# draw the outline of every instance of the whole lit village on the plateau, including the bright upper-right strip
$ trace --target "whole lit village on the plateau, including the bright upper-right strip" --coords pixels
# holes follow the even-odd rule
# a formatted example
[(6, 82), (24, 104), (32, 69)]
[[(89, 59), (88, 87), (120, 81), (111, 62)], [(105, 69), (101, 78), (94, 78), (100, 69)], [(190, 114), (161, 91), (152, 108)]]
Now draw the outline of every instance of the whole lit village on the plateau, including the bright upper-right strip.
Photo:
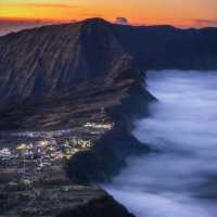
[(16, 186), (17, 180), (29, 186), (40, 179), (44, 181), (46, 177), (50, 179), (50, 174), (60, 177), (62, 167), (73, 155), (91, 149), (98, 136), (113, 127), (113, 123), (86, 123), (76, 133), (68, 131), (64, 139), (56, 133), (59, 136), (37, 137), (10, 148), (2, 146), (0, 171), (3, 179), (8, 179), (10, 186)]

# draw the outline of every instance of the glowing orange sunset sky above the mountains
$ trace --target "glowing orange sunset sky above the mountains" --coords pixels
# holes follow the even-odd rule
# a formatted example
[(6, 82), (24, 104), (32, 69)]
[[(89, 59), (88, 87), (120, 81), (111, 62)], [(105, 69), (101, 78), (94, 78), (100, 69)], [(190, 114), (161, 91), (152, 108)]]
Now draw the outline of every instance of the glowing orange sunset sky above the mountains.
[(127, 17), (131, 24), (217, 26), (217, 0), (0, 0), (0, 18)]

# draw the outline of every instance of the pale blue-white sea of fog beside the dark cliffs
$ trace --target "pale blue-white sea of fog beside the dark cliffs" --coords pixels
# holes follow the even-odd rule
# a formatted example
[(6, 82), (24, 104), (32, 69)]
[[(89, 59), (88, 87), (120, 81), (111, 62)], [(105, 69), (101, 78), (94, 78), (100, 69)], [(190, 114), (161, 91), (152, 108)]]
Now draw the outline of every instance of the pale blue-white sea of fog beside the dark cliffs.
[(149, 72), (158, 102), (135, 136), (158, 152), (105, 186), (138, 217), (217, 216), (217, 73)]

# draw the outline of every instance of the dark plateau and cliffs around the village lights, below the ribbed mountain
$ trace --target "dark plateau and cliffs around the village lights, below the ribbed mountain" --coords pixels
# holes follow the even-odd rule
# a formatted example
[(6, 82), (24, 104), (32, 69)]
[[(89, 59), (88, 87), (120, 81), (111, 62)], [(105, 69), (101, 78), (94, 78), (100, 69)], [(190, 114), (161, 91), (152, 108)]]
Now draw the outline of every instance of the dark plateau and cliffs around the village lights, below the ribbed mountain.
[[(108, 180), (126, 165), (127, 155), (149, 151), (130, 133), (132, 120), (148, 114), (148, 103), (154, 100), (142, 86), (141, 72), (126, 69), (4, 107), (0, 113), (0, 140), (12, 150), (17, 143), (37, 143), (41, 139), (54, 141), (62, 149), (67, 141), (73, 145), (75, 137), (90, 141), (90, 146), (81, 143), (72, 148), (76, 152), (69, 161), (56, 159), (40, 171), (37, 159), (25, 162), (25, 174), (20, 173), (22, 158), (1, 164), (0, 214), (131, 217), (102, 190), (77, 184)], [(94, 128), (87, 123), (105, 127)], [(37, 136), (25, 136), (26, 131)]]

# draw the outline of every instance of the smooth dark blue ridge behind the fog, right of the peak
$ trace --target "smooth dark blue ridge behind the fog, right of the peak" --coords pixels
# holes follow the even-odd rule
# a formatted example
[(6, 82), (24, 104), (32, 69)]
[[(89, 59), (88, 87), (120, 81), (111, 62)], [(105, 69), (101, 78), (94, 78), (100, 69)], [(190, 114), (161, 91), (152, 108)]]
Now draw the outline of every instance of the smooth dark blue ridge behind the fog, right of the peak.
[(217, 69), (217, 28), (114, 26), (122, 47), (146, 69)]

